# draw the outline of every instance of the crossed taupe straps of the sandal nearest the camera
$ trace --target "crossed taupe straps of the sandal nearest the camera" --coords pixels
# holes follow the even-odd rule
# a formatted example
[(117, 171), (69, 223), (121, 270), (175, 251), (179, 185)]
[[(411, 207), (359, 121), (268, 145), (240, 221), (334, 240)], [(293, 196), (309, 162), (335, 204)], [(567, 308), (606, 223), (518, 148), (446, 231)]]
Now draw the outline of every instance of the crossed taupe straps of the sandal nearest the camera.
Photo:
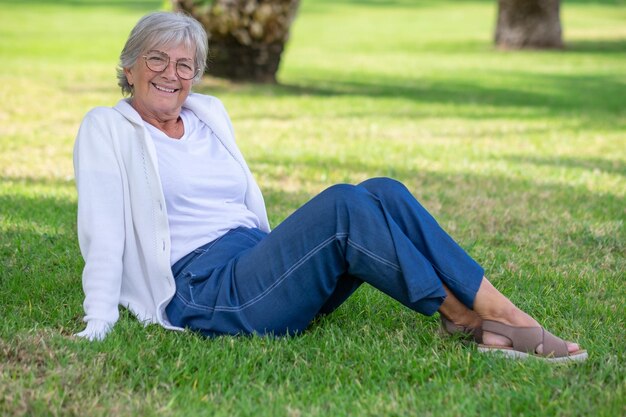
[(518, 352), (537, 355), (537, 347), (543, 344), (541, 356), (555, 358), (568, 356), (567, 344), (543, 327), (515, 327), (492, 320), (483, 321), (483, 330), (508, 338)]

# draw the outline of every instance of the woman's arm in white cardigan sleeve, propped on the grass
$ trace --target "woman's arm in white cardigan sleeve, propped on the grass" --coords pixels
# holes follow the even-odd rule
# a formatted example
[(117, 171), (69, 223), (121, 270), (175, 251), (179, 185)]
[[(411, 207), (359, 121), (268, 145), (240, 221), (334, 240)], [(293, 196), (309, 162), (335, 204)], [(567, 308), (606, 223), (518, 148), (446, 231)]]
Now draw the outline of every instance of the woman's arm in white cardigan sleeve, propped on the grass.
[[(85, 116), (74, 145), (78, 190), (78, 242), (85, 260), (83, 290), (87, 327), (77, 336), (103, 339), (119, 317), (124, 254), (124, 190), (107, 112)], [(110, 113), (109, 113), (110, 114)], [(109, 121), (109, 123), (107, 123)]]

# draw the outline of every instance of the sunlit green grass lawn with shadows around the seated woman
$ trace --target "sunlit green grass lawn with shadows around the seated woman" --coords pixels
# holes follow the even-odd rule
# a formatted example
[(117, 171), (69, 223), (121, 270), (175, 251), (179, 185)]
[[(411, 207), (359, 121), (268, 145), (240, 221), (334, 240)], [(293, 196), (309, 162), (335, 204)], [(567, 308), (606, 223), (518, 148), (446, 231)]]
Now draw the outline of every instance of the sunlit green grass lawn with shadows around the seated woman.
[(493, 1), (305, 0), (279, 86), (207, 78), (276, 225), (336, 182), (405, 182), (587, 362), (494, 360), (371, 288), (296, 338), (82, 330), (71, 152), (161, 1), (0, 0), (0, 414), (626, 414), (626, 8), (567, 1), (565, 51), (502, 52)]

